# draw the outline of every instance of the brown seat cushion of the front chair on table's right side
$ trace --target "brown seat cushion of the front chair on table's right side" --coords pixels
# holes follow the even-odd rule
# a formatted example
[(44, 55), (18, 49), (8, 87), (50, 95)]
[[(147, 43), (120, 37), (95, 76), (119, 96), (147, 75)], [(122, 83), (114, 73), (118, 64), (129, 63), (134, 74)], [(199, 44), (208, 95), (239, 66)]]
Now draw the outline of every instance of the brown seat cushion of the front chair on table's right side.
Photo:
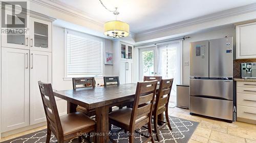
[[(126, 126), (130, 125), (130, 120), (131, 120), (131, 115), (132, 115), (132, 108), (123, 108), (119, 110), (114, 110), (109, 114), (109, 119), (117, 121), (119, 123), (122, 123)], [(143, 116), (135, 121), (135, 124), (143, 121), (146, 119), (147, 116)]]

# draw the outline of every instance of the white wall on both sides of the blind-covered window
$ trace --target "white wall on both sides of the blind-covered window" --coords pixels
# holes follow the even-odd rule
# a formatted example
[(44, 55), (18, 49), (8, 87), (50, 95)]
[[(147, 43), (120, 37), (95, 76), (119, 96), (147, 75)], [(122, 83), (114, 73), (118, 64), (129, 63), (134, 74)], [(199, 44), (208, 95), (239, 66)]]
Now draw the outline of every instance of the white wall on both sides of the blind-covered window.
[[(53, 46), (52, 46), (52, 84), (54, 90), (69, 90), (72, 89), (72, 80), (63, 80), (65, 77), (65, 33), (63, 27), (53, 26)], [(103, 38), (102, 38), (103, 39)], [(112, 51), (112, 41), (104, 39), (103, 55), (104, 52)], [(102, 58), (104, 60), (104, 56)], [(112, 65), (104, 65), (103, 63), (103, 76), (111, 76), (113, 73)], [(103, 84), (103, 78), (97, 77), (96, 84)]]

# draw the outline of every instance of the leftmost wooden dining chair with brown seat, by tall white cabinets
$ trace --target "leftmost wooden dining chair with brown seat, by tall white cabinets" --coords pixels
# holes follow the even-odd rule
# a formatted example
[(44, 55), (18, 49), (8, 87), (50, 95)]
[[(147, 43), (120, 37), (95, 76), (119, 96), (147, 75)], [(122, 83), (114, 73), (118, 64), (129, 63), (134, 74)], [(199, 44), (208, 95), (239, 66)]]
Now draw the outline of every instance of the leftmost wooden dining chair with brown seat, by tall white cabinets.
[(80, 112), (73, 112), (59, 117), (52, 85), (41, 81), (38, 81), (38, 85), (47, 119), (47, 143), (50, 142), (51, 132), (57, 138), (58, 143), (63, 143), (77, 136), (78, 141), (81, 142), (82, 134), (95, 131), (95, 121)]

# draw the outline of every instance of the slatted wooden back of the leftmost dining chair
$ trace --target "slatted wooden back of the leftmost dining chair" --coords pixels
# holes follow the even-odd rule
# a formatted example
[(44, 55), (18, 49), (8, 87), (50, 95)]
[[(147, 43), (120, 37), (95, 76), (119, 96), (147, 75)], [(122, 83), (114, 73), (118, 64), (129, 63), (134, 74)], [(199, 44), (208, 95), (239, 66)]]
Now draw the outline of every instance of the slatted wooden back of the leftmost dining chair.
[(38, 81), (38, 85), (41, 94), (42, 104), (44, 106), (46, 114), (47, 126), (50, 126), (50, 128), (54, 129), (53, 132), (57, 138), (58, 136), (63, 136), (59, 113), (53, 95), (52, 84)]

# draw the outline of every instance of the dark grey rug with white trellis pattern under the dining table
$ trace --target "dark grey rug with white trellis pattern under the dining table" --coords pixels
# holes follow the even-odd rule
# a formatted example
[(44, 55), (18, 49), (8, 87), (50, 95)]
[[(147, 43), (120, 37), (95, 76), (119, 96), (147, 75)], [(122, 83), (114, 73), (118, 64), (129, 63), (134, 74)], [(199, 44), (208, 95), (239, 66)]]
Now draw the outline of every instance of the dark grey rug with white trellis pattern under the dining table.
[[(160, 130), (160, 142), (163, 143), (186, 143), (190, 136), (193, 134), (195, 129), (197, 128), (198, 122), (188, 121), (181, 118), (176, 117), (170, 117), (170, 125), (172, 126), (172, 131), (169, 130), (169, 128), (166, 126)], [(119, 133), (114, 133), (120, 128), (116, 126), (112, 126), (112, 134), (111, 138), (113, 138), (117, 142), (125, 143), (129, 142), (129, 137), (127, 134), (124, 133), (124, 131), (121, 131)], [(147, 130), (145, 128), (141, 128), (138, 130), (141, 133), (147, 134)], [(7, 141), (4, 141), (3, 143), (43, 143), (46, 141), (46, 129), (37, 131), (31, 134), (27, 134), (24, 136), (20, 136), (14, 139), (10, 139)], [(155, 140), (156, 137), (154, 136)], [(91, 140), (93, 140), (91, 138)], [(135, 134), (135, 142), (143, 142), (146, 140), (145, 137)], [(57, 142), (57, 139), (54, 137), (54, 135), (51, 136), (50, 142)], [(77, 143), (78, 138), (71, 139), (70, 141), (67, 141), (66, 143)], [(82, 142), (87, 142), (87, 140), (83, 139)], [(157, 141), (155, 141), (157, 142)]]

